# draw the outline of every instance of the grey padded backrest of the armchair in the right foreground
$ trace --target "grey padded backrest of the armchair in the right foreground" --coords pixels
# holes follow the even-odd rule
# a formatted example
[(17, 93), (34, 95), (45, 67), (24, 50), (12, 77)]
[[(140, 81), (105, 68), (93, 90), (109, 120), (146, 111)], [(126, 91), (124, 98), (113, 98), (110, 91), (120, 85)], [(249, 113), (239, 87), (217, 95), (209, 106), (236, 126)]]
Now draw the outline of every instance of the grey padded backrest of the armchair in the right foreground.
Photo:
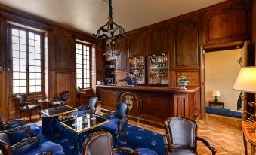
[(165, 121), (170, 150), (184, 148), (196, 153), (196, 122), (187, 118), (171, 117)]

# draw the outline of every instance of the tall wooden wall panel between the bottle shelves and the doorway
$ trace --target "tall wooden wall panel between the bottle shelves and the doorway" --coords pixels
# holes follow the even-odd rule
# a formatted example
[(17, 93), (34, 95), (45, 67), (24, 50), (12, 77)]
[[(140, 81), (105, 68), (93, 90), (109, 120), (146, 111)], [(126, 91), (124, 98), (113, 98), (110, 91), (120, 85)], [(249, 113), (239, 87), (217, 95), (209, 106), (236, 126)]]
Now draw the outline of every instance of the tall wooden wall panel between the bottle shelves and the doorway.
[(199, 66), (201, 44), (200, 18), (171, 25), (171, 68)]

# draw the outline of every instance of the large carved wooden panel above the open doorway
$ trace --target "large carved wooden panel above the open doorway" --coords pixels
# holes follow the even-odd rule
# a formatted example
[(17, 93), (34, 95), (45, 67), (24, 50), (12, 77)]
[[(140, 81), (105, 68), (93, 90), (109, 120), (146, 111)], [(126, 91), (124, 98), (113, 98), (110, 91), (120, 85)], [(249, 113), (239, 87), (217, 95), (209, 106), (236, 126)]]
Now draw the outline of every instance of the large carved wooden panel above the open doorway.
[(205, 45), (245, 41), (250, 36), (249, 1), (205, 13)]

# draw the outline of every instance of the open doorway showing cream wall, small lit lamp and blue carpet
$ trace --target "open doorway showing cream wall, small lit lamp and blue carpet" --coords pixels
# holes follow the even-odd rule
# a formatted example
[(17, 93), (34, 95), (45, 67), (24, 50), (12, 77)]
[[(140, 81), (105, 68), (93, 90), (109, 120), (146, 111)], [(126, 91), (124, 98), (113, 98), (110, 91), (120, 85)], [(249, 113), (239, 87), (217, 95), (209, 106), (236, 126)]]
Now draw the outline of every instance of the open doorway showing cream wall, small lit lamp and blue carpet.
[(242, 67), (242, 48), (205, 53), (205, 107), (207, 114), (241, 118), (242, 99), (233, 90)]

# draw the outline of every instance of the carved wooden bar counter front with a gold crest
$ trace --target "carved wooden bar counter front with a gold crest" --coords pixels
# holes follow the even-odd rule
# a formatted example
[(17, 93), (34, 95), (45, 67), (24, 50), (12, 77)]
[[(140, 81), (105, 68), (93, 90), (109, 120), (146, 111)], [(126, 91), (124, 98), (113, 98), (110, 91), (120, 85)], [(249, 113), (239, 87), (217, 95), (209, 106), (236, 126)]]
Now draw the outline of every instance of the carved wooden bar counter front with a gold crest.
[(116, 102), (128, 102), (129, 116), (163, 125), (168, 117), (200, 114), (199, 88), (99, 85), (96, 91), (103, 109), (115, 111)]

